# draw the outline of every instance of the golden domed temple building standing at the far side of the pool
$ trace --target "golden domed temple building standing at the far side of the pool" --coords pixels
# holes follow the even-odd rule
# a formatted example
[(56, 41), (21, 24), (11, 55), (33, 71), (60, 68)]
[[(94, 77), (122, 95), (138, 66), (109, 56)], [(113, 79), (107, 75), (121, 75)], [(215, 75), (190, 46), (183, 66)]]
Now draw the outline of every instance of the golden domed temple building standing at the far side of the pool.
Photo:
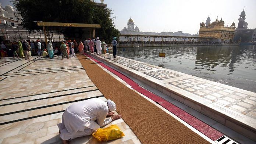
[(206, 24), (202, 22), (199, 29), (199, 37), (209, 37), (210, 42), (232, 42), (235, 33), (235, 23), (230, 27), (224, 26), (224, 21), (218, 20), (210, 23), (210, 17), (207, 18)]

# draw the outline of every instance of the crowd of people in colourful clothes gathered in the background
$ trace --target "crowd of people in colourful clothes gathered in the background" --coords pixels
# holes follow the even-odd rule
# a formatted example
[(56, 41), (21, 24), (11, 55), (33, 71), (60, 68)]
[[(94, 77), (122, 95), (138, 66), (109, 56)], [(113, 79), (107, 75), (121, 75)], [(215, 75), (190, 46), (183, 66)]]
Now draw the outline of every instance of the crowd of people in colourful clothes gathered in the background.
[[(98, 55), (106, 53), (107, 51), (107, 43), (102, 39), (100, 41), (99, 37), (95, 39), (85, 39), (83, 42), (80, 41), (77, 43), (76, 40), (66, 40), (63, 42), (52, 42), (48, 41), (46, 43), (44, 41), (34, 40), (24, 40), (23, 42), (20, 40), (18, 42), (1, 42), (0, 45), (0, 59), (2, 57), (17, 57), (17, 58), (25, 58), (25, 60), (31, 60), (32, 56), (39, 55), (44, 58), (54, 58), (54, 55), (61, 55), (62, 59), (64, 56), (66, 58), (76, 57), (76, 54), (84, 53), (84, 51), (89, 51), (90, 53), (96, 53)], [(116, 37), (114, 37), (112, 41), (114, 58), (116, 54)]]

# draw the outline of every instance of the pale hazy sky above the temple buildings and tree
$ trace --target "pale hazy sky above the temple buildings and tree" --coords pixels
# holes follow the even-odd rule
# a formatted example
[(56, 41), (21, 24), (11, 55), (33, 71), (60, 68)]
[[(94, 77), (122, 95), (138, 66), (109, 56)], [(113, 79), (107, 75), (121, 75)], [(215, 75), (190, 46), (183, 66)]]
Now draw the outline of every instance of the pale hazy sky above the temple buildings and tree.
[[(10, 0), (0, 0), (6, 6)], [(99, 2), (100, 0), (95, 0)], [(177, 32), (195, 34), (199, 24), (206, 21), (210, 14), (211, 21), (217, 16), (231, 26), (238, 18), (243, 7), (249, 28), (256, 28), (256, 0), (104, 0), (107, 7), (113, 10), (114, 23), (117, 29), (127, 27), (130, 17), (142, 32)]]

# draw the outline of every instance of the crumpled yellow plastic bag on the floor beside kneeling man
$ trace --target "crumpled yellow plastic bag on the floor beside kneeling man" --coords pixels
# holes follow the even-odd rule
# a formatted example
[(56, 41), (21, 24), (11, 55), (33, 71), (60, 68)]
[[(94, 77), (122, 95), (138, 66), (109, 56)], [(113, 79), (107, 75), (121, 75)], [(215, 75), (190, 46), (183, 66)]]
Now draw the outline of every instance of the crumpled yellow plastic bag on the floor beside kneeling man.
[(92, 134), (93, 137), (97, 138), (97, 141), (110, 141), (124, 136), (120, 128), (117, 125), (111, 125), (105, 129), (97, 129)]

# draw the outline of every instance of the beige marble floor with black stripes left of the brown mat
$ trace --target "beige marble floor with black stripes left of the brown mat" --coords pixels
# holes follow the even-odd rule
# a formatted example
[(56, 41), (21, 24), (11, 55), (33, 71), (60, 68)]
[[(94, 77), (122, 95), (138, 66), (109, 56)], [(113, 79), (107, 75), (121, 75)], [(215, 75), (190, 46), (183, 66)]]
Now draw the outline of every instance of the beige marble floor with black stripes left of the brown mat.
[[(61, 144), (57, 123), (64, 110), (74, 102), (106, 98), (86, 75), (76, 57), (33, 57), (0, 60), (0, 143)], [(140, 143), (122, 120), (118, 125), (125, 137), (110, 143)], [(107, 125), (107, 126), (109, 126)], [(98, 143), (92, 136), (76, 138), (71, 144)]]

